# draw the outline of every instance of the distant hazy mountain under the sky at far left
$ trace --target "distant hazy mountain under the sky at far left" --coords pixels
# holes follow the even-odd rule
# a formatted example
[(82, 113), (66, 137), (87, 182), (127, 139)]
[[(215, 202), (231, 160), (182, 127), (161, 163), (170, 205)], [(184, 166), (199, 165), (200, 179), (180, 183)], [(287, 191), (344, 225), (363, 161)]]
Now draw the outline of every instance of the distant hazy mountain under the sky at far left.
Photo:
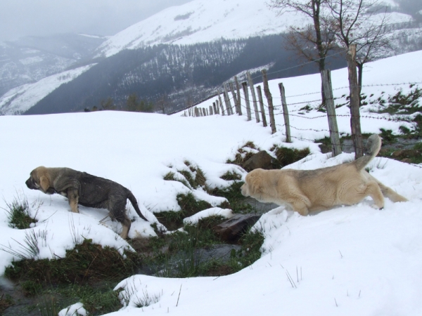
[(0, 43), (0, 96), (83, 64), (105, 40), (87, 34), (58, 34)]

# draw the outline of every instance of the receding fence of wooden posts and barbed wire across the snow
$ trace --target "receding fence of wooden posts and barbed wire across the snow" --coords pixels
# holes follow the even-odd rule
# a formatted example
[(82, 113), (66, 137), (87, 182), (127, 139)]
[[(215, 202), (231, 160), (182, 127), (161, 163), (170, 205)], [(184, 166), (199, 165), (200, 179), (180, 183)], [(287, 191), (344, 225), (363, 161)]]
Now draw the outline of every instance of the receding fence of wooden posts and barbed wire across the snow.
[[(321, 72), (321, 78), (323, 79), (323, 84), (324, 84), (324, 100), (322, 99), (314, 99), (314, 100), (305, 100), (305, 101), (301, 101), (301, 102), (296, 102), (296, 103), (289, 103), (287, 105), (286, 103), (286, 98), (293, 98), (293, 97), (297, 97), (297, 96), (309, 96), (309, 95), (313, 95), (316, 93), (321, 93), (321, 91), (315, 91), (315, 92), (309, 92), (309, 93), (302, 93), (299, 95), (295, 95), (295, 96), (286, 96), (286, 93), (284, 91), (284, 87), (282, 83), (279, 83), (279, 90), (280, 90), (280, 97), (273, 97), (271, 94), (271, 91), (269, 90), (269, 84), (268, 84), (268, 80), (267, 80), (267, 72), (265, 70), (262, 70), (262, 79), (263, 79), (263, 87), (264, 87), (264, 94), (267, 98), (267, 105), (264, 105), (263, 101), (262, 101), (262, 93), (261, 93), (261, 86), (257, 86), (257, 93), (258, 96), (260, 96), (260, 109), (258, 109), (257, 107), (257, 98), (255, 96), (255, 86), (253, 85), (252, 79), (250, 78), (250, 74), (248, 73), (248, 81), (243, 81), (241, 83), (242, 87), (243, 87), (243, 96), (240, 93), (240, 88), (238, 88), (238, 81), (235, 80), (236, 82), (236, 93), (234, 92), (234, 86), (233, 83), (225, 83), (223, 85), (223, 88), (220, 89), (220, 91), (222, 91), (222, 94), (224, 96), (224, 103), (226, 105), (226, 108), (223, 107), (222, 104), (222, 96), (221, 93), (219, 93), (217, 96), (215, 96), (215, 98), (218, 98), (218, 100), (215, 100), (215, 102), (212, 104), (213, 106), (209, 106), (208, 108), (203, 107), (202, 109), (198, 107), (195, 107), (195, 110), (191, 110), (189, 109), (188, 112), (186, 113), (186, 111), (184, 112), (184, 116), (187, 116), (187, 114), (189, 116), (207, 116), (207, 115), (212, 115), (212, 114), (217, 114), (216, 108), (218, 109), (218, 105), (220, 105), (221, 110), (222, 110), (222, 115), (231, 115), (231, 114), (235, 114), (234, 113), (234, 109), (236, 109), (236, 114), (240, 115), (240, 116), (245, 116), (247, 117), (248, 121), (252, 120), (252, 109), (250, 107), (250, 98), (249, 95), (251, 93), (252, 95), (252, 103), (254, 105), (254, 112), (255, 112), (255, 120), (257, 123), (260, 123), (260, 115), (262, 115), (262, 124), (264, 126), (267, 126), (266, 123), (266, 116), (264, 114), (265, 111), (265, 107), (267, 107), (268, 111), (269, 111), (269, 121), (270, 121), (270, 126), (271, 126), (271, 133), (276, 133), (277, 131), (277, 126), (283, 126), (286, 131), (283, 135), (286, 136), (286, 142), (290, 143), (291, 142), (291, 138), (295, 138), (295, 139), (300, 139), (300, 140), (309, 140), (311, 142), (314, 142), (314, 140), (310, 140), (307, 138), (302, 138), (302, 137), (298, 137), (298, 136), (293, 136), (290, 133), (290, 128), (294, 129), (295, 131), (314, 131), (314, 132), (328, 132), (330, 139), (331, 139), (331, 146), (332, 146), (332, 152), (333, 155), (337, 155), (341, 153), (341, 145), (340, 145), (340, 137), (339, 137), (339, 131), (338, 131), (338, 125), (337, 125), (337, 118), (338, 117), (347, 117), (348, 119), (350, 119), (350, 121), (353, 121), (354, 119), (357, 118), (357, 121), (359, 121), (359, 125), (360, 125), (360, 119), (378, 119), (378, 120), (385, 120), (385, 121), (397, 121), (397, 122), (406, 122), (409, 123), (411, 122), (411, 119), (409, 119), (409, 117), (404, 117), (403, 115), (395, 115), (392, 116), (391, 114), (388, 117), (385, 116), (371, 116), (371, 115), (362, 115), (359, 112), (359, 107), (357, 107), (357, 112), (355, 109), (355, 112), (350, 112), (350, 114), (336, 114), (335, 113), (335, 104), (334, 104), (334, 100), (338, 100), (338, 98), (334, 98), (333, 97), (333, 91), (335, 90), (340, 90), (340, 89), (344, 89), (344, 88), (349, 88), (348, 86), (344, 86), (344, 87), (338, 87), (338, 88), (332, 88), (331, 86), (331, 72), (329, 70), (324, 70), (323, 72)], [(235, 78), (237, 79), (237, 78)], [(364, 85), (362, 87), (371, 87), (371, 86), (402, 86), (404, 84), (409, 84), (410, 88), (412, 88), (413, 86), (416, 86), (418, 84), (422, 84), (422, 82), (407, 82), (407, 83), (400, 83), (400, 84), (369, 84), (369, 85)], [(229, 86), (229, 88), (228, 88)], [(356, 85), (353, 86), (354, 88), (356, 87)], [(416, 88), (418, 88), (418, 86), (416, 86)], [(229, 93), (229, 91), (231, 92), (231, 95)], [(249, 92), (250, 91), (250, 92)], [(356, 96), (356, 91), (354, 91), (352, 93), (353, 96)], [(344, 96), (342, 96), (341, 98), (343, 98)], [(351, 98), (352, 96), (350, 96)], [(276, 105), (274, 105), (273, 103), (273, 98), (276, 98), (278, 100), (280, 100), (279, 102), (281, 104), (279, 104), (279, 102), (277, 102)], [(241, 102), (241, 100), (243, 100), (243, 102)], [(231, 101), (234, 101), (234, 105), (232, 105)], [(293, 113), (288, 113), (288, 106), (293, 106), (293, 105), (301, 105), (301, 104), (309, 104), (309, 103), (325, 103), (325, 108), (326, 108), (326, 113), (325, 114), (321, 114), (321, 115), (317, 115), (314, 117), (307, 117), (305, 116), (305, 114), (293, 114)], [(356, 97), (354, 97), (354, 103), (358, 102), (357, 104), (359, 105), (359, 99), (358, 101), (356, 101)], [(350, 104), (352, 105), (352, 100), (350, 100)], [(242, 108), (245, 109), (245, 114), (243, 114), (242, 112)], [(274, 113), (275, 111), (275, 113)], [(300, 112), (299, 112), (300, 113)], [(284, 124), (276, 124), (275, 121), (275, 117), (276, 116), (280, 116), (283, 115), (283, 120), (284, 120)], [(321, 118), (326, 118), (328, 119), (328, 129), (301, 129), (299, 127), (296, 126), (292, 126), (290, 124), (290, 119), (289, 117), (300, 117), (302, 119), (321, 119)], [(359, 131), (359, 133), (355, 133), (354, 134), (354, 129), (357, 129)], [(352, 126), (352, 140), (353, 140), (353, 144), (354, 144), (354, 150), (355, 150), (355, 157), (360, 157), (363, 152), (364, 152), (364, 145), (362, 144), (362, 135), (361, 131), (360, 131), (360, 126), (356, 127), (356, 126)], [(359, 138), (360, 137), (360, 138)], [(361, 155), (358, 156), (359, 152), (362, 152)]]

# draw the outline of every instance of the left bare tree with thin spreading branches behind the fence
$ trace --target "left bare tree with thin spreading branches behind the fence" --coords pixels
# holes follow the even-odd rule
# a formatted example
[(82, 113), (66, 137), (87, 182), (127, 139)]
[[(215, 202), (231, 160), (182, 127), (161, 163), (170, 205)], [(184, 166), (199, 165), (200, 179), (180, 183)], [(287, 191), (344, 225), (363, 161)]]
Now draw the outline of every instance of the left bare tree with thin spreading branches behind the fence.
[[(303, 27), (290, 27), (286, 39), (288, 48), (297, 51), (306, 60), (316, 62), (319, 72), (325, 70), (328, 52), (335, 48), (335, 23), (326, 10), (328, 0), (271, 0), (270, 8), (279, 15), (298, 12), (312, 20)], [(321, 97), (324, 103), (324, 86), (321, 77)]]

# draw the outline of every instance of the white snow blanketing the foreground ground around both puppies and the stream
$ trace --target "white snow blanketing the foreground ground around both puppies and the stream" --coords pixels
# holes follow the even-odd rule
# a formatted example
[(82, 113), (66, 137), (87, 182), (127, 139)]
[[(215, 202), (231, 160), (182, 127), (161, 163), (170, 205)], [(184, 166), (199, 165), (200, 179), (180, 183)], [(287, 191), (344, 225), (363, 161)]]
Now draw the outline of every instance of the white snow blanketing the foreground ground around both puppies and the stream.
[[(396, 93), (397, 88), (408, 91), (409, 84), (403, 83), (418, 82), (421, 86), (421, 58), (422, 52), (415, 52), (369, 64), (364, 84), (399, 85), (366, 86), (364, 93), (375, 93), (373, 98), (378, 98)], [(347, 86), (347, 70), (336, 70), (331, 75), (333, 87), (338, 88), (336, 103), (342, 103), (340, 97), (347, 93), (341, 88)], [(226, 159), (233, 158), (247, 141), (263, 150), (274, 144), (310, 146), (312, 154), (290, 168), (315, 169), (353, 159), (353, 154), (334, 158), (321, 154), (308, 139), (328, 136), (326, 115), (300, 110), (307, 103), (291, 105), (320, 98), (317, 93), (306, 94), (318, 91), (319, 75), (270, 81), (274, 98), (279, 95), (277, 85), (281, 81), (290, 96), (290, 122), (297, 128), (292, 129), (291, 144), (283, 143), (282, 126), (271, 134), (269, 127), (237, 115), (193, 118), (181, 117), (180, 113), (165, 116), (105, 111), (0, 117), (0, 248), (24, 254), (19, 243), (25, 245), (25, 237), (34, 236), (39, 253), (33, 257), (37, 259), (63, 257), (66, 249), (72, 249), (83, 238), (121, 253), (131, 249), (117, 235), (120, 224), (106, 218), (106, 210), (80, 206), (81, 213), (70, 213), (64, 197), (27, 189), (25, 180), (40, 165), (67, 166), (115, 180), (132, 190), (142, 213), (150, 223), (157, 223), (152, 211), (178, 211), (179, 193), (192, 192), (214, 201), (217, 207), (215, 197), (203, 190), (163, 180), (167, 173), (184, 170), (188, 161), (203, 170), (210, 187), (229, 185), (230, 181), (219, 177), (227, 171), (243, 176), (245, 172), (226, 164)], [(302, 96), (293, 97), (298, 94)], [(309, 104), (315, 107), (316, 103)], [(209, 105), (207, 101), (200, 106)], [(403, 123), (380, 119), (386, 114), (367, 112), (374, 106), (362, 109), (362, 114), (372, 117), (362, 119), (362, 131), (378, 133), (384, 128), (399, 133)], [(348, 112), (346, 106), (337, 110), (344, 115)], [(282, 125), (280, 115), (276, 123)], [(349, 117), (339, 117), (338, 125), (340, 132), (350, 133)], [(109, 315), (143, 312), (186, 316), (198, 315), (198, 311), (201, 315), (422, 315), (422, 166), (376, 158), (369, 169), (409, 202), (386, 199), (383, 210), (374, 210), (368, 198), (354, 206), (306, 217), (277, 207), (265, 213), (254, 227), (263, 232), (265, 240), (262, 257), (249, 268), (218, 278), (134, 275), (117, 284), (116, 289), (123, 289), (123, 307)], [(16, 198), (26, 198), (32, 205), (38, 222), (30, 229), (8, 225), (6, 203)], [(198, 217), (223, 211), (206, 210)], [(224, 212), (229, 216), (229, 211)], [(130, 238), (155, 235), (150, 223), (141, 220), (132, 208), (129, 216), (134, 219)], [(19, 258), (8, 251), (0, 253), (2, 274)], [(142, 311), (136, 308), (146, 298), (150, 305)]]

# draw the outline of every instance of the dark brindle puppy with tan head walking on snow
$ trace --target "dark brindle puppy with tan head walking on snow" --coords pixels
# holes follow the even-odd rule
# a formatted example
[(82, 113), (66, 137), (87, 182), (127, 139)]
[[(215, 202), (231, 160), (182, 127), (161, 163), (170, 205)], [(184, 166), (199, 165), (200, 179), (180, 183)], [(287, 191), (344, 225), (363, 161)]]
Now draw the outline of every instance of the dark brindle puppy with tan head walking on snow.
[(91, 176), (89, 173), (70, 168), (46, 168), (39, 166), (31, 171), (25, 184), (32, 190), (40, 190), (48, 195), (59, 193), (69, 199), (70, 209), (79, 213), (77, 204), (108, 209), (110, 218), (117, 220), (123, 226), (120, 236), (127, 239), (131, 221), (126, 214), (126, 200), (143, 220), (136, 198), (126, 187), (112, 180)]

